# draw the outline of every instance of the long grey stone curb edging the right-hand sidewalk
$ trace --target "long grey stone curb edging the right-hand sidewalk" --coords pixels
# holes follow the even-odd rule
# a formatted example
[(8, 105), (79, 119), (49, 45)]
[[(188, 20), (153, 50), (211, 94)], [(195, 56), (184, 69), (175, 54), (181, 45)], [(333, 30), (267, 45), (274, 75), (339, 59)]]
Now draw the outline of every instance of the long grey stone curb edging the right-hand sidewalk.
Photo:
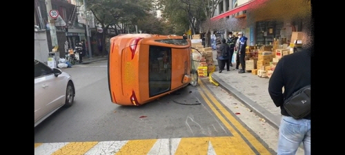
[(264, 109), (264, 107), (260, 106), (259, 104), (255, 103), (253, 100), (249, 99), (246, 95), (242, 94), (241, 92), (237, 91), (234, 87), (231, 87), (226, 82), (221, 80), (217, 75), (212, 74), (212, 79), (219, 83), (219, 86), (221, 86), (226, 92), (233, 94), (236, 99), (244, 103), (246, 107), (248, 107), (250, 110), (253, 110), (255, 114), (257, 114), (259, 117), (264, 118), (270, 125), (275, 127), (275, 129), (279, 130), (280, 120), (282, 116), (275, 116), (272, 113), (268, 112), (268, 110)]

